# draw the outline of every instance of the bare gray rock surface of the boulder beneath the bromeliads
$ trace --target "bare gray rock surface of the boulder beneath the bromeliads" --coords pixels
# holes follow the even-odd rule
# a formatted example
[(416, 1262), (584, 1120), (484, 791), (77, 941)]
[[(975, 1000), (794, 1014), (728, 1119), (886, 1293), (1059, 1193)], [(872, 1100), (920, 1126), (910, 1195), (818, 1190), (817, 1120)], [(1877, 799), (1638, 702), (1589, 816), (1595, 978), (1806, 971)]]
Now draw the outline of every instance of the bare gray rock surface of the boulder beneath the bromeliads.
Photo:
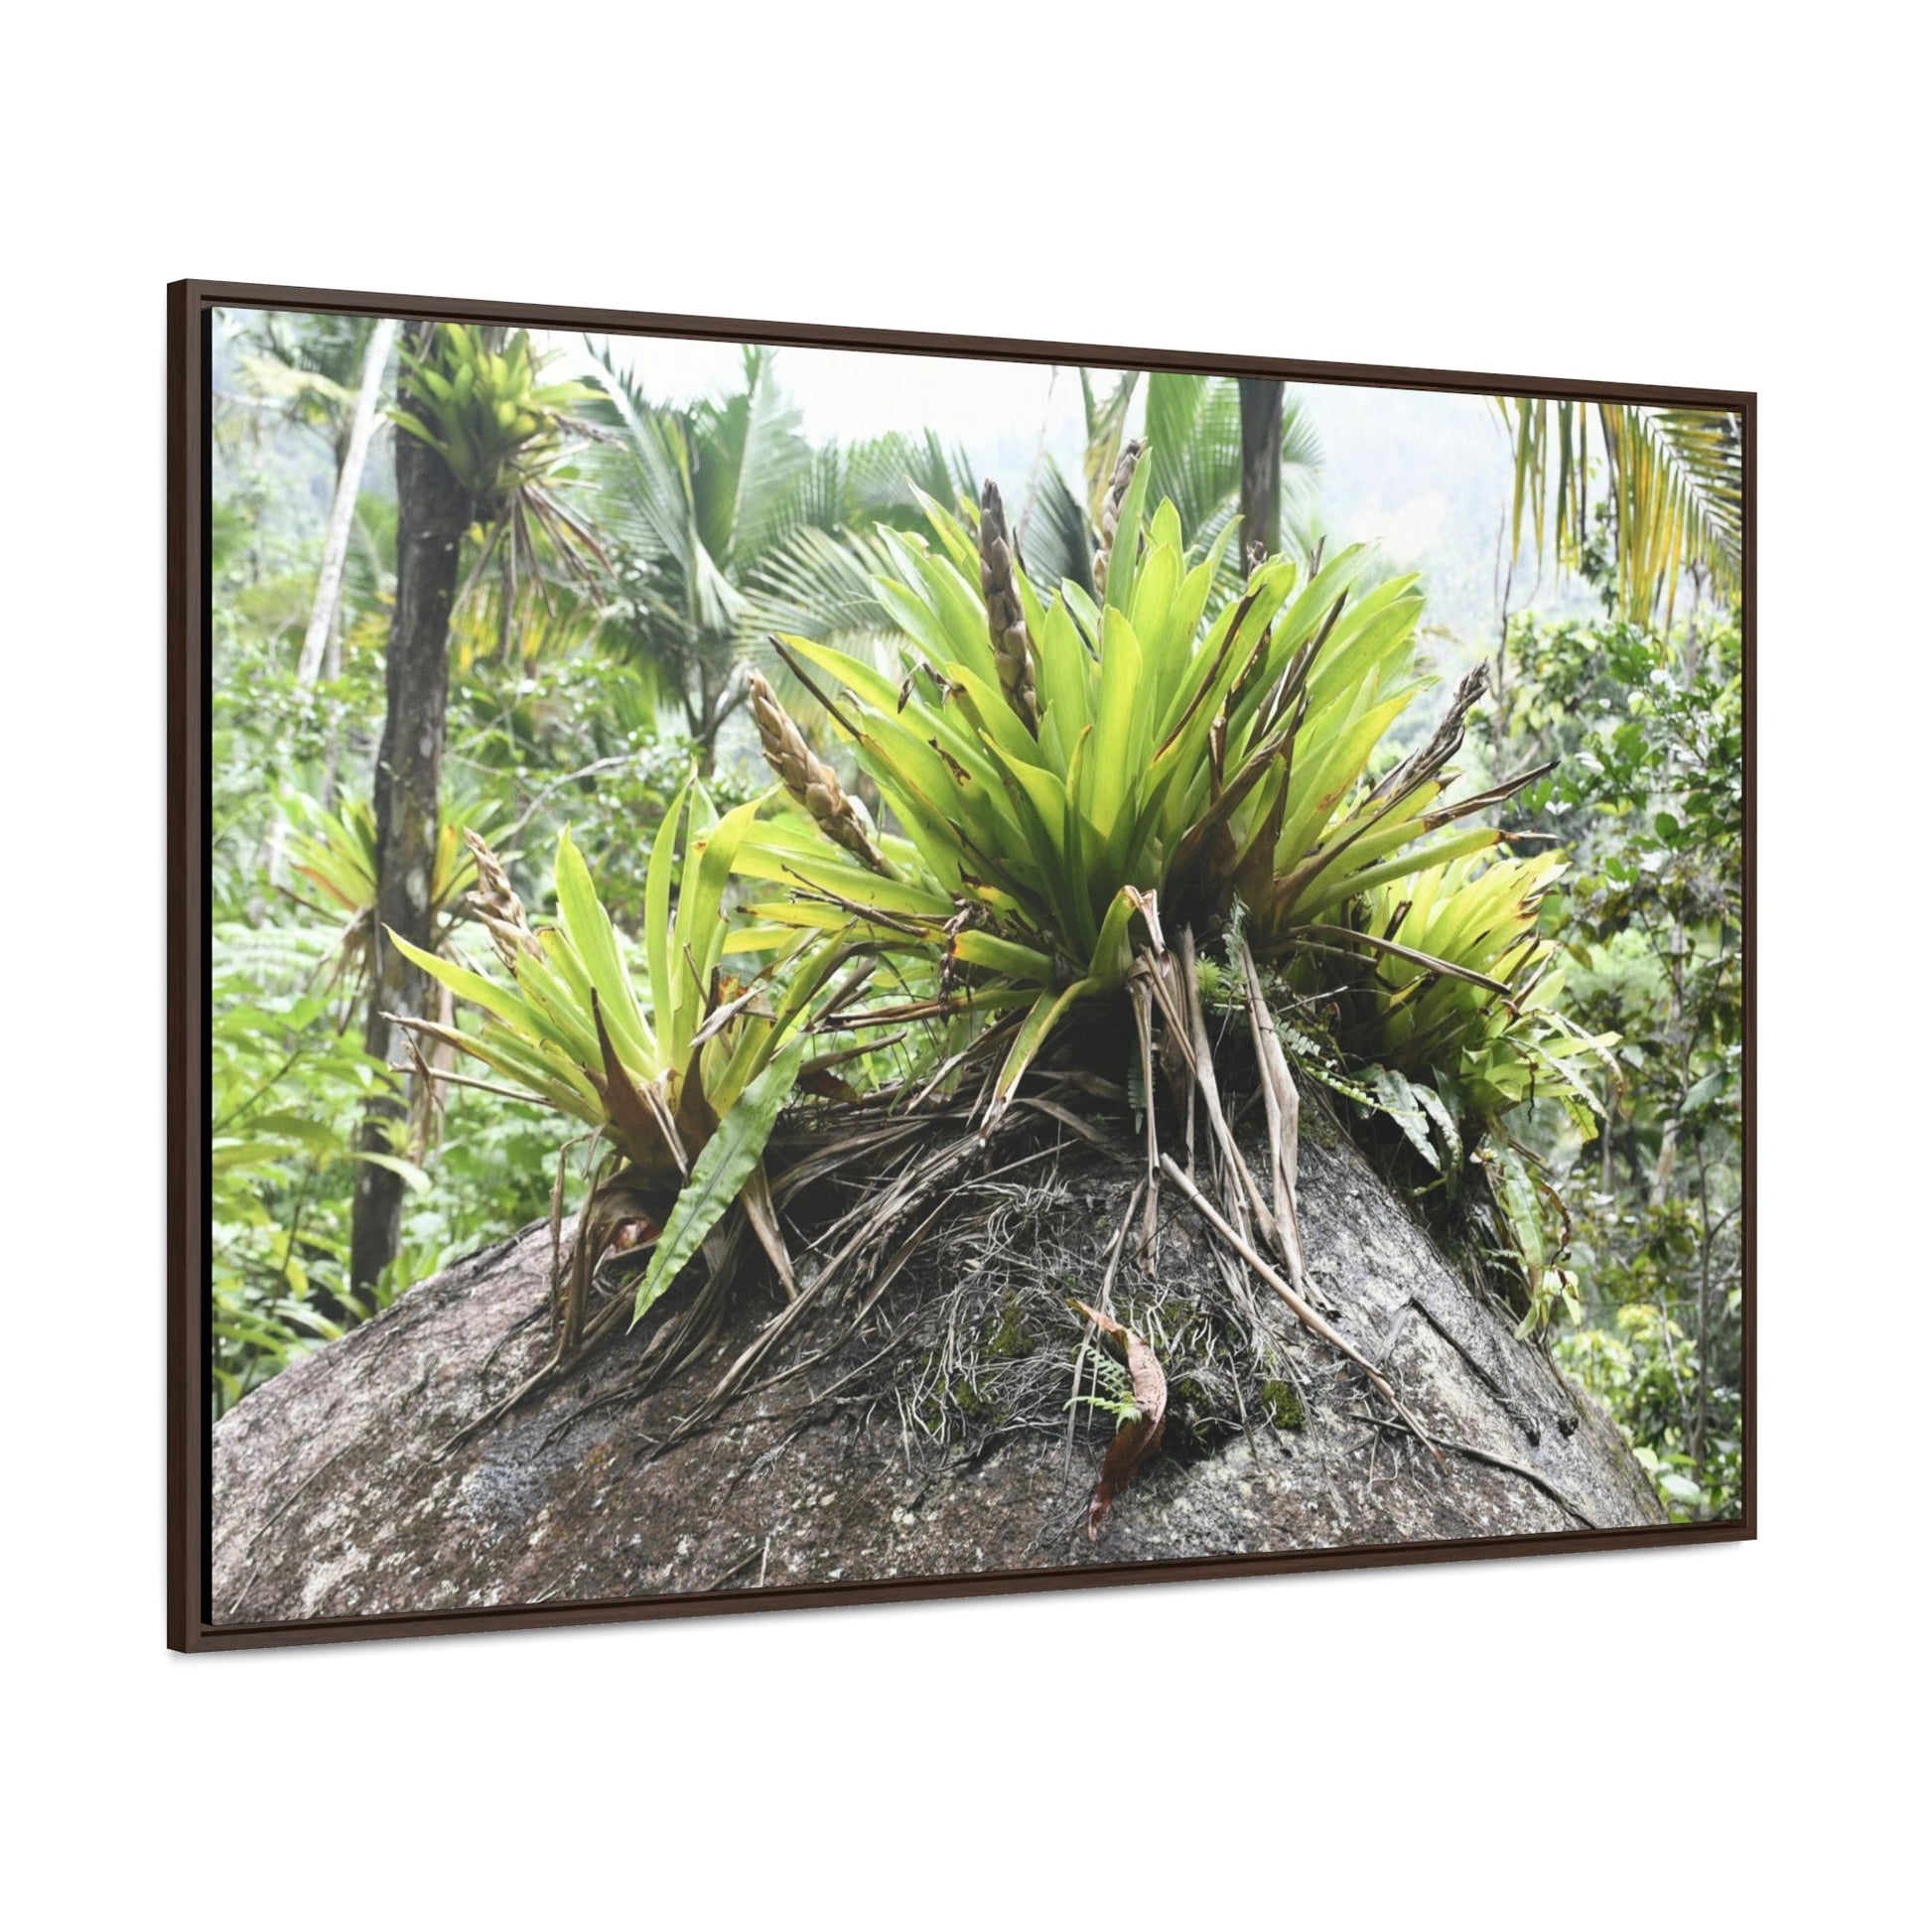
[[(1103, 1231), (1117, 1225), (1130, 1179), (1084, 1148), (1061, 1155), (1057, 1194), (1039, 1213), (1057, 1221), (1063, 1252), (1078, 1256), (1084, 1244), (1092, 1258), (1072, 1293), (1094, 1293), (1082, 1283), (1097, 1281)], [(773, 1291), (748, 1277), (719, 1350), (665, 1387), (626, 1395), (634, 1349), (616, 1343), (439, 1459), (466, 1420), (543, 1358), (549, 1236), (537, 1229), (425, 1281), (222, 1418), (214, 1619), (566, 1604), (750, 1590), (761, 1580), (947, 1577), (1663, 1520), (1607, 1418), (1443, 1264), (1406, 1204), (1347, 1142), (1304, 1140), (1302, 1219), (1316, 1281), (1343, 1331), (1383, 1362), (1434, 1435), (1463, 1445), (1445, 1453), (1445, 1468), (1372, 1420), (1385, 1408), (1360, 1374), (1281, 1312), (1310, 1397), (1306, 1424), (1277, 1430), (1254, 1418), (1192, 1453), (1171, 1424), (1169, 1447), (1090, 1544), (1086, 1495), (1105, 1441), (1097, 1430), (1082, 1430), (1068, 1455), (1061, 1424), (991, 1426), (952, 1449), (929, 1445), (908, 1424), (929, 1358), (914, 1333), (920, 1308), (978, 1265), (970, 1229), (935, 1244), (881, 1304), (885, 1321), (910, 1310), (893, 1333), (914, 1339), (900, 1343), (896, 1370), (879, 1372), (885, 1381), (858, 1378), (856, 1397), (800, 1414), (810, 1393), (837, 1393), (846, 1362), (879, 1350), (877, 1329), (846, 1358), (753, 1393), (723, 1426), (661, 1449), (769, 1320)], [(1209, 1267), (1206, 1238), (1169, 1196), (1161, 1271), (1184, 1281)], [(1169, 1362), (1169, 1376), (1182, 1368)]]

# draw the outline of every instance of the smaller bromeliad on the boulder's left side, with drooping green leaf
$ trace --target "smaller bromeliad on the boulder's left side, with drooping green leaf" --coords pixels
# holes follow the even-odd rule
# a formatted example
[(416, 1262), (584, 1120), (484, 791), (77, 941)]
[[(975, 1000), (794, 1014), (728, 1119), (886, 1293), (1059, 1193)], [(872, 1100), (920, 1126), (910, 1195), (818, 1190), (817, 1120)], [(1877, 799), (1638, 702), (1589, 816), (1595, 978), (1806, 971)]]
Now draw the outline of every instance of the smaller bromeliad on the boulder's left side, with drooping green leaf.
[[(719, 817), (696, 782), (672, 802), (649, 860), (641, 985), (568, 833), (556, 850), (558, 923), (537, 929), (495, 856), (471, 838), (473, 908), (500, 976), (390, 933), (423, 972), (487, 1016), (473, 1034), (433, 1020), (400, 1024), (473, 1055), (522, 1095), (583, 1122), (601, 1150), (568, 1271), (558, 1260), (553, 1277), (556, 1347), (539, 1379), (614, 1327), (626, 1306), (639, 1320), (703, 1252), (707, 1293), (653, 1341), (661, 1364), (674, 1366), (703, 1339), (746, 1227), (790, 1287), (763, 1153), (838, 954), (808, 939), (748, 985), (721, 970), (726, 881), (755, 810), (752, 802)], [(558, 1236), (560, 1200), (562, 1167), (553, 1198)], [(599, 1264), (634, 1246), (651, 1252), (636, 1294), (628, 1304), (593, 1306)]]

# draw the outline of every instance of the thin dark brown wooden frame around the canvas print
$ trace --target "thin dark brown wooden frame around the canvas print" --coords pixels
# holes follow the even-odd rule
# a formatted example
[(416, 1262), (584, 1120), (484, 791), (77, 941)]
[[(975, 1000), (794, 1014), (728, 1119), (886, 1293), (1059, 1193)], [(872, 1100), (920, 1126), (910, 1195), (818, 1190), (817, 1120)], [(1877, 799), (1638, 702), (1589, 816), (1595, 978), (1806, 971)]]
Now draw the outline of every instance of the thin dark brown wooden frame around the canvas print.
[[(1743, 1418), (1745, 1505), (1737, 1522), (1634, 1530), (1557, 1530), (1542, 1536), (1461, 1538), (1432, 1544), (1368, 1544), (1349, 1549), (1188, 1557), (1157, 1563), (1028, 1569), (970, 1577), (786, 1584), (759, 1592), (709, 1590), (676, 1598), (545, 1604), (533, 1609), (460, 1609), (435, 1615), (317, 1617), (292, 1623), (222, 1623), (209, 1617), (211, 1403), (209, 1314), (209, 311), (288, 309), (379, 315), (402, 321), (466, 321), (572, 328), (601, 334), (686, 336), (798, 348), (952, 355), (978, 361), (1057, 361), (1090, 369), (1177, 369), (1204, 375), (1279, 377), (1291, 383), (1430, 388), (1480, 396), (1551, 396), (1733, 410), (1745, 450), (1745, 1273)], [(361, 1636), (433, 1636), (454, 1631), (520, 1631), (717, 1611), (914, 1598), (991, 1596), (1175, 1578), (1279, 1577), (1294, 1571), (1368, 1569), (1383, 1563), (1447, 1563), (1466, 1557), (1557, 1555), (1586, 1549), (1650, 1549), (1747, 1542), (1758, 1534), (1756, 1378), (1756, 446), (1758, 398), (1748, 390), (1644, 383), (1578, 383), (1461, 369), (1391, 369), (1374, 363), (1213, 355), (1184, 350), (1026, 342), (902, 328), (730, 321), (707, 315), (641, 315), (529, 301), (458, 301), (359, 290), (272, 288), (249, 282), (168, 284), (168, 1648), (243, 1650), (342, 1642)]]

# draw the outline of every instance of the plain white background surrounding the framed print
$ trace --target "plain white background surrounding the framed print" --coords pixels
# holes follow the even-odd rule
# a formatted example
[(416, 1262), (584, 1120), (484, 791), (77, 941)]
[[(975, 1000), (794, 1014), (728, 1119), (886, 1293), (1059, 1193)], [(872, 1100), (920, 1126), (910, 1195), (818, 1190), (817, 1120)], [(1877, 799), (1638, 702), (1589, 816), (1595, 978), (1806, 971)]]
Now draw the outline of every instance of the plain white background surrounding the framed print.
[[(1911, 14), (676, 12), (10, 27), (15, 1922), (1911, 1917), (1932, 997)], [(182, 274), (1760, 390), (1762, 1542), (166, 1656)]]

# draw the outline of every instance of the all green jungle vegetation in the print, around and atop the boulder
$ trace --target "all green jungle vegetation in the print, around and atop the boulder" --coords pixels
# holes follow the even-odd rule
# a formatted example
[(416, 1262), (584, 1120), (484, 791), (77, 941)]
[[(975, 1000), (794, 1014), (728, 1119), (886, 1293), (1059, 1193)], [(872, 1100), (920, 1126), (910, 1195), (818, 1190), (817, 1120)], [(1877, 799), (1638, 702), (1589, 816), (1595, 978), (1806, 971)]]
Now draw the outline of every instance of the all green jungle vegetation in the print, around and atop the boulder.
[[(1163, 1441), (1302, 1426), (1320, 1349), (1434, 1455), (1310, 1279), (1320, 1117), (1675, 1519), (1733, 1515), (1727, 419), (1505, 404), (1495, 510), (1567, 597), (1505, 578), (1478, 639), (1323, 535), (1320, 392), (1082, 373), (1078, 468), (987, 481), (923, 425), (810, 439), (781, 375), (230, 317), (216, 1408), (547, 1221), (545, 1374), (626, 1325), (667, 1374), (769, 1296), (715, 1412), (1047, 1122), (1134, 1161), (1126, 1215), (1088, 1277), (983, 1271), (908, 1430), (970, 1439), (1007, 1364), (1111, 1435), (1097, 1526)], [(1213, 1267), (1117, 1298), (1163, 1202)]]

